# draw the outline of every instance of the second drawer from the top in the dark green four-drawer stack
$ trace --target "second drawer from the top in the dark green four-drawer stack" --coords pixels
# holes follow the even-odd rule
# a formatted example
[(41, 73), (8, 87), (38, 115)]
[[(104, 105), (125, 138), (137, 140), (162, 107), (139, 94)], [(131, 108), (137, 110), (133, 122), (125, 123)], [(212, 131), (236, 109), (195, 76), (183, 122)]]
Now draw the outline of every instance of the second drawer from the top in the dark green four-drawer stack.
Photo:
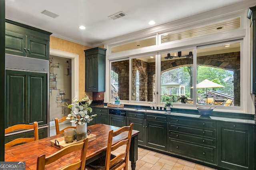
[(193, 127), (184, 127), (180, 125), (170, 125), (169, 129), (171, 131), (189, 133), (194, 135), (206, 136), (215, 138), (215, 129), (203, 129), (203, 128), (193, 128)]

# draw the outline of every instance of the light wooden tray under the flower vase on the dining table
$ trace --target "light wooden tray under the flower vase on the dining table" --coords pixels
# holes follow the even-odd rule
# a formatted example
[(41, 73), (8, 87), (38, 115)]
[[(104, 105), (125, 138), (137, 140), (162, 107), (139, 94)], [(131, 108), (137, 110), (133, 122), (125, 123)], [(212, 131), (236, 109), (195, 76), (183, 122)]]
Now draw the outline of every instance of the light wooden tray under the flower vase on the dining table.
[[(89, 138), (89, 142), (96, 139), (96, 135), (93, 135), (93, 134), (90, 134), (90, 135), (87, 135), (87, 138)], [(56, 141), (57, 140), (57, 141)], [(54, 140), (51, 140), (51, 145), (58, 148), (58, 149), (62, 149), (64, 147), (67, 147), (68, 145), (72, 145), (72, 144), (75, 144), (75, 143), (79, 143), (79, 142), (82, 142), (83, 140), (81, 141), (73, 141), (72, 143), (66, 143), (64, 141), (64, 137), (60, 137), (60, 138), (57, 138), (57, 139), (54, 139)]]

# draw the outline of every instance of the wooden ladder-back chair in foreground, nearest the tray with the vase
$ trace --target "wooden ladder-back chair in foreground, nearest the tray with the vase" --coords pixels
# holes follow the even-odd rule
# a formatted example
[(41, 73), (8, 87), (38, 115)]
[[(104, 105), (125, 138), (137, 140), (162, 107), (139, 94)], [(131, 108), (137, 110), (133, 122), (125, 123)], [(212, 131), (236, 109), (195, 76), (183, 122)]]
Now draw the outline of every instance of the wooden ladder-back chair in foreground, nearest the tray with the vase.
[[(70, 162), (70, 164), (62, 167), (61, 170), (84, 170), (87, 147), (88, 138), (84, 139), (84, 141), (82, 141), (81, 143), (72, 144), (67, 147), (64, 147), (61, 150), (55, 152), (54, 154), (51, 154), (50, 156), (46, 157), (45, 154), (43, 154), (37, 158), (36, 169), (44, 170), (45, 165), (55, 162), (56, 160), (60, 159), (62, 156), (65, 156), (66, 154), (69, 154), (71, 152), (78, 152), (81, 150), (80, 160), (76, 161), (76, 159), (74, 158), (74, 161), (76, 162)], [(52, 169), (54, 168), (52, 167)]]

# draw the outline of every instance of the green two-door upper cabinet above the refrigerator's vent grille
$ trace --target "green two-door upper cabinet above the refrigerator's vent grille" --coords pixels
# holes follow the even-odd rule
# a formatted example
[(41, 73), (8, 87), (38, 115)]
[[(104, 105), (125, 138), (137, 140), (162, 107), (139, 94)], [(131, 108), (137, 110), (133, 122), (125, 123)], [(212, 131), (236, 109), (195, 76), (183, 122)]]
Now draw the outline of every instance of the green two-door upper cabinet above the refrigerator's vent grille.
[(5, 53), (49, 60), (51, 33), (6, 20), (5, 34)]

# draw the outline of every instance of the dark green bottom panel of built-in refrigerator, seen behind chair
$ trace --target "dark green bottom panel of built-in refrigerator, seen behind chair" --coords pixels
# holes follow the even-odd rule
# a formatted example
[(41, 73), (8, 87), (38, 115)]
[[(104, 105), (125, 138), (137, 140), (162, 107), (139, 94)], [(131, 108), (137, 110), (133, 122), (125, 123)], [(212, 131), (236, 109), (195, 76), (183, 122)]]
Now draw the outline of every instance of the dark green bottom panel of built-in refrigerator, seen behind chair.
[[(22, 137), (34, 137), (34, 131), (24, 132), (24, 133), (18, 133), (16, 135), (10, 135), (6, 136), (4, 138), (4, 143), (8, 143), (14, 139), (22, 138)], [(38, 137), (39, 139), (43, 139), (48, 137), (48, 128), (38, 129)]]

